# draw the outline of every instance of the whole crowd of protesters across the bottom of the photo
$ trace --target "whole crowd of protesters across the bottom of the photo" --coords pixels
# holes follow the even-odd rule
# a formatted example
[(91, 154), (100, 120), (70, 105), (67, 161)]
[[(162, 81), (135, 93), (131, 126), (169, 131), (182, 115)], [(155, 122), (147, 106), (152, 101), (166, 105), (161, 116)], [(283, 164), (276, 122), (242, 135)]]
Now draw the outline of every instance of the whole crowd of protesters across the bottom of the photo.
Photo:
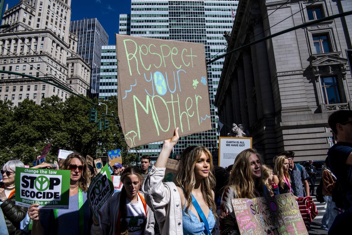
[[(325, 223), (329, 234), (342, 234), (352, 218), (352, 111), (337, 111), (328, 123), (338, 143), (329, 149), (322, 172)], [(174, 136), (164, 141), (151, 168), (150, 156), (141, 158), (141, 169), (116, 163), (111, 173), (120, 177), (122, 187), (108, 199), (99, 218), (93, 216), (87, 199), (96, 171), (80, 154), (72, 153), (58, 164), (58, 169), (71, 172), (69, 208), (65, 210), (38, 209), (38, 204), (29, 208), (15, 205), (15, 167), (24, 164), (8, 161), (1, 169), (0, 235), (210, 235), (216, 229), (221, 235), (239, 234), (232, 198), (293, 193), (298, 202), (302, 198), (312, 202), (316, 169), (311, 162), (307, 168), (294, 163), (292, 151), (277, 155), (272, 168), (264, 165), (255, 149), (246, 149), (224, 169), (213, 166), (212, 154), (205, 147), (189, 146), (182, 152), (174, 182), (163, 182), (166, 163), (178, 139), (176, 128)], [(49, 163), (36, 166), (51, 167)], [(340, 208), (336, 198), (343, 200)]]

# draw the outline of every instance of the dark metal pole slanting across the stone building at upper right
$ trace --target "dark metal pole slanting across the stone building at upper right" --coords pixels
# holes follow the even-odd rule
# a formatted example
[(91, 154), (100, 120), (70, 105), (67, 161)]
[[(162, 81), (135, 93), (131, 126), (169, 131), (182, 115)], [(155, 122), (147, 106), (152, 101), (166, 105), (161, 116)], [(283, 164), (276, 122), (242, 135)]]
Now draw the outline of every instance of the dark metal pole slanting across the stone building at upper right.
[(284, 33), (287, 33), (287, 32), (291, 32), (293, 30), (296, 30), (296, 29), (300, 29), (300, 28), (303, 28), (303, 27), (307, 27), (309, 25), (313, 25), (313, 24), (317, 24), (317, 23), (320, 23), (322, 21), (326, 21), (326, 20), (331, 20), (331, 19), (335, 19), (335, 18), (339, 18), (339, 17), (344, 17), (344, 16), (349, 16), (352, 14), (352, 11), (346, 11), (346, 12), (343, 12), (343, 13), (340, 13), (340, 14), (336, 14), (336, 15), (332, 15), (332, 16), (328, 16), (328, 17), (324, 17), (324, 18), (321, 18), (321, 19), (318, 19), (318, 20), (312, 20), (312, 21), (309, 21), (309, 22), (306, 22), (304, 24), (300, 24), (300, 25), (297, 25), (297, 26), (294, 26), (294, 27), (291, 27), (289, 29), (285, 29), (283, 31), (280, 31), (280, 32), (277, 32), (277, 33), (274, 33), (272, 35), (269, 35), (269, 36), (266, 36), (266, 37), (263, 37), (263, 38), (260, 38), (258, 39), (257, 41), (254, 41), (254, 42), (251, 42), (251, 43), (248, 43), (246, 45), (243, 45), (242, 47), (239, 47), (239, 48), (235, 48), (229, 52), (226, 52), (225, 54), (222, 54), (221, 56), (218, 56), (216, 58), (214, 58), (213, 60), (210, 60), (207, 62), (207, 65), (208, 64), (211, 64), (213, 63), (214, 61), (217, 61), (227, 55), (230, 55), (232, 54), (233, 52), (236, 52), (236, 51), (239, 51), (241, 49), (244, 49), (246, 47), (249, 47), (253, 44), (256, 44), (258, 42), (262, 42), (262, 41), (265, 41), (266, 39), (270, 39), (270, 38), (273, 38), (273, 37), (276, 37), (276, 36), (279, 36), (279, 35), (282, 35)]

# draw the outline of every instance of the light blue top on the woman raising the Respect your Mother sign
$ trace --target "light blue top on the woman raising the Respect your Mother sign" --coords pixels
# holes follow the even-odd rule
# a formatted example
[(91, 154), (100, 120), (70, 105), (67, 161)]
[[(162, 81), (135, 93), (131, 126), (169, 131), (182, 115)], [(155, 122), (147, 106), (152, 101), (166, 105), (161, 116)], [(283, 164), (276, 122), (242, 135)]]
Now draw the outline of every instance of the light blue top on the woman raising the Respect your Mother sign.
[[(206, 234), (207, 230), (204, 227), (204, 223), (199, 222), (197, 216), (192, 211), (188, 210), (189, 212), (189, 215), (188, 215), (185, 210), (186, 210), (186, 205), (184, 205), (182, 209), (183, 234), (184, 235)], [(209, 230), (211, 232), (215, 226), (215, 218), (211, 208), (209, 208), (209, 215), (208, 215), (207, 221), (209, 224)]]

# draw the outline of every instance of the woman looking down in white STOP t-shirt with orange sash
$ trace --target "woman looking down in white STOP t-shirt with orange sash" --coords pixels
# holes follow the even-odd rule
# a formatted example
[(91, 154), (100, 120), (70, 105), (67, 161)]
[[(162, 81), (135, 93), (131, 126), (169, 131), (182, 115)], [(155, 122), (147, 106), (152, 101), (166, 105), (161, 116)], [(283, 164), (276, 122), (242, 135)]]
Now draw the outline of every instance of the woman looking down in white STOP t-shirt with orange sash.
[(93, 218), (91, 234), (153, 235), (154, 215), (139, 191), (143, 182), (140, 170), (135, 166), (127, 167), (121, 181), (124, 184), (121, 192), (114, 193), (101, 211), (101, 228)]

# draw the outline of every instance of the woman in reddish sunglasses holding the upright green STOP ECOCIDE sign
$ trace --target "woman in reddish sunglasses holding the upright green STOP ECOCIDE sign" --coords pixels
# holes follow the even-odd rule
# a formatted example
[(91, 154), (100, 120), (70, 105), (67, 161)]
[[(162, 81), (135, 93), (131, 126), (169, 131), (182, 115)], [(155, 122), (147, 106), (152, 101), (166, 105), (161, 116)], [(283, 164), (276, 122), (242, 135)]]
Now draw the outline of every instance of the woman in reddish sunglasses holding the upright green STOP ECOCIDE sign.
[(78, 153), (71, 153), (62, 163), (61, 169), (71, 171), (70, 198), (68, 210), (39, 210), (38, 204), (32, 204), (28, 209), (31, 219), (40, 220), (44, 234), (57, 235), (88, 234), (90, 218), (87, 190), (90, 183), (88, 164)]

